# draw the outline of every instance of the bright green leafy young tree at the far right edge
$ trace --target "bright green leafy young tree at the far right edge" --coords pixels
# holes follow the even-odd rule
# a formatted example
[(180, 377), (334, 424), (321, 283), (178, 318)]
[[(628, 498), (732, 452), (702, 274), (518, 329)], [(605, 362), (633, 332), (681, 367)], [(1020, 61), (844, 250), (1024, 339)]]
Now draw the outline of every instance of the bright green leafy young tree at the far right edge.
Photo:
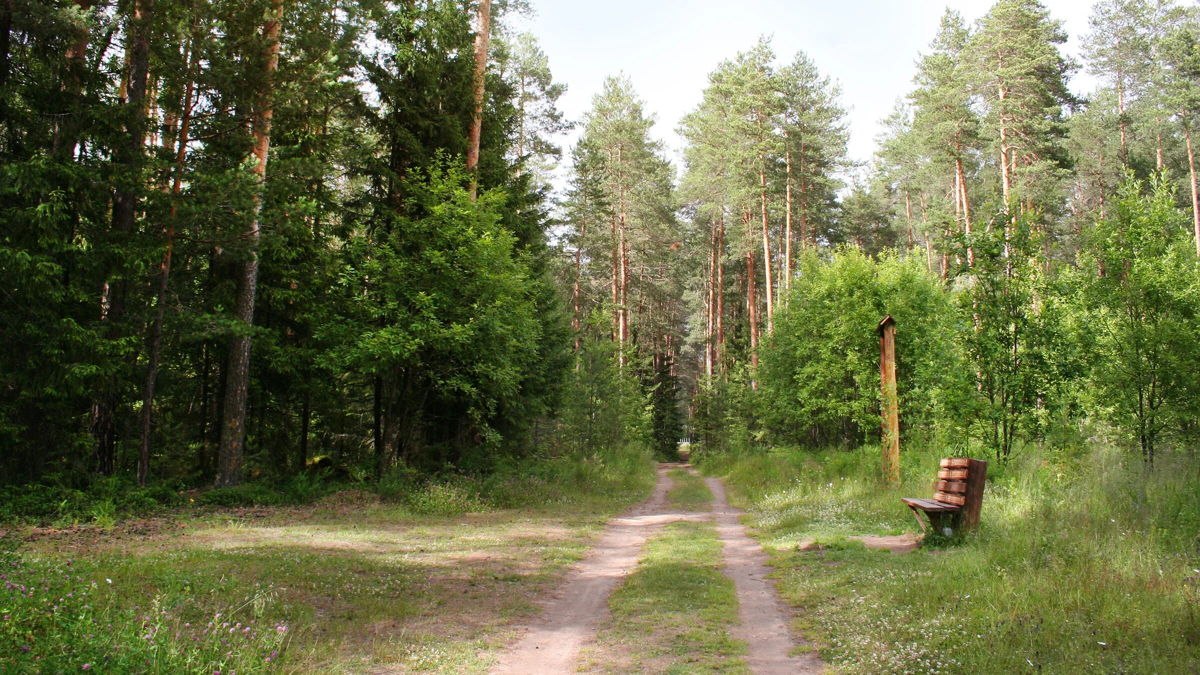
[(1132, 177), (1112, 215), (1090, 234), (1092, 246), (1072, 275), (1073, 333), (1090, 363), (1082, 398), (1153, 461), (1162, 436), (1198, 416), (1194, 363), (1196, 263), (1187, 215), (1174, 186), (1158, 178), (1150, 192)]

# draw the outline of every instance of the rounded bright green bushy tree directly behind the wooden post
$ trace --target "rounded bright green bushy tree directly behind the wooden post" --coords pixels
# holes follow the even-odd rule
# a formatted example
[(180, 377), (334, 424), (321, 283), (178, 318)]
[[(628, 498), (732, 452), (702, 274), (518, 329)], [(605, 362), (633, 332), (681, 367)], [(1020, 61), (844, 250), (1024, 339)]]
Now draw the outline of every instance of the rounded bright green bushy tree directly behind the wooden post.
[(876, 261), (845, 247), (806, 257), (761, 348), (755, 410), (770, 442), (858, 444), (878, 429), (880, 341), (896, 321), (900, 419), (906, 435), (944, 437), (970, 402), (954, 342), (960, 319), (920, 262)]

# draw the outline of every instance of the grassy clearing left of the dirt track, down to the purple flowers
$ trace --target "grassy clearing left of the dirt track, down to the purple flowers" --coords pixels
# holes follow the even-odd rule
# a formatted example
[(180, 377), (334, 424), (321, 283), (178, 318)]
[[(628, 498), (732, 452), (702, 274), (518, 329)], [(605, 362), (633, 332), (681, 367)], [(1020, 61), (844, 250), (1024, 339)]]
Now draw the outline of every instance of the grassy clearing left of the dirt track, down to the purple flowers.
[(10, 525), (0, 670), (484, 673), (534, 598), (653, 484), (648, 454), (607, 453), (485, 488)]

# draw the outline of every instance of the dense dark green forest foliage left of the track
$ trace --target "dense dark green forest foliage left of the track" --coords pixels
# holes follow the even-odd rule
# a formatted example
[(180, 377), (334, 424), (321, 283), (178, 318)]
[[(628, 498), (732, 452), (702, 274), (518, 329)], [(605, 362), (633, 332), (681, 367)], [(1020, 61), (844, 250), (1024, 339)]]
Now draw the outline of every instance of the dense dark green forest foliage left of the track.
[[(0, 483), (132, 473), (151, 386), (151, 480), (210, 482), (251, 256), (245, 466), (271, 485), (212, 500), (311, 501), (320, 488), (277, 484), (314, 455), (361, 477), (398, 455), (430, 470), (529, 452), (570, 340), (546, 190), (511, 160), (548, 161), (563, 129), (532, 40), (520, 83), (497, 41), (473, 203), (455, 168), (474, 117), (461, 4), (287, 2), (270, 80), (265, 0), (136, 7), (2, 10)], [(125, 91), (133, 25), (150, 43), (144, 106)], [(259, 185), (252, 118), (268, 101)], [(149, 142), (131, 145), (136, 129)]]

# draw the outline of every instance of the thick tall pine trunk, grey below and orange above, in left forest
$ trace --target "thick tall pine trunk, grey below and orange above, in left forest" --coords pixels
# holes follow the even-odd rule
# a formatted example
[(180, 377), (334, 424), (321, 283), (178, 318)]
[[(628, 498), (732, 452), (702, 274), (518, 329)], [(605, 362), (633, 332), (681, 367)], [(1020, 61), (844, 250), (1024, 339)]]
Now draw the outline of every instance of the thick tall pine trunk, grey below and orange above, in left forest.
[(236, 485), (241, 483), (242, 453), (246, 444), (246, 401), (250, 389), (250, 330), (254, 322), (254, 295), (258, 291), (258, 239), (263, 196), (266, 183), (266, 159), (271, 148), (271, 118), (275, 114), (271, 102), (275, 85), (275, 72), (280, 67), (280, 28), (283, 22), (283, 0), (271, 0), (271, 16), (263, 26), (266, 37), (266, 60), (263, 65), (265, 90), (259, 96), (258, 109), (253, 120), (254, 133), (254, 177), (258, 179), (258, 191), (254, 195), (254, 210), (251, 216), (246, 239), (250, 243), (250, 259), (241, 263), (238, 279), (238, 298), (234, 304), (234, 318), (241, 324), (238, 335), (229, 341), (229, 362), (226, 368), (226, 400), (222, 416), (221, 446), (217, 449), (217, 484)]

